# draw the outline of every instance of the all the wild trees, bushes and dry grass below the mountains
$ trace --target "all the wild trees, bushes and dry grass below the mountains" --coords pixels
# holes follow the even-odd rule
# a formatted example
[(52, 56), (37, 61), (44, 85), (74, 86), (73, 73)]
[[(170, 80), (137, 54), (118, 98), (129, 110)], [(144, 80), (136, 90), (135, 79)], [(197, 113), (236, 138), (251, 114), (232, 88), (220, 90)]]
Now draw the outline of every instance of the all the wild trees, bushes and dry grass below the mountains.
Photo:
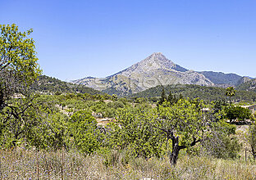
[[(217, 88), (229, 101), (203, 101), (162, 88), (155, 103), (88, 89), (69, 92), (74, 89), (65, 85), (54, 94), (36, 93), (31, 86), (41, 70), (27, 38), (32, 30), (0, 28), (1, 178), (255, 178), (255, 117), (233, 105), (240, 92)], [(201, 88), (202, 94), (208, 89)], [(106, 124), (99, 123), (103, 119)], [(231, 124), (238, 121), (251, 125), (240, 132)]]

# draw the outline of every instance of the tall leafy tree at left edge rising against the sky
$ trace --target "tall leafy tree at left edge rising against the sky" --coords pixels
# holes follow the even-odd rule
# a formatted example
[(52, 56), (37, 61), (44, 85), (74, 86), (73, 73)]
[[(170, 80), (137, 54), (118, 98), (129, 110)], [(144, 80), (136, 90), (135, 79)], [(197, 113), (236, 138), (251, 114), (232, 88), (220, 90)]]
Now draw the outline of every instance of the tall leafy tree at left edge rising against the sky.
[(33, 30), (20, 32), (17, 25), (0, 25), (0, 110), (14, 93), (21, 93), (41, 74), (34, 51)]

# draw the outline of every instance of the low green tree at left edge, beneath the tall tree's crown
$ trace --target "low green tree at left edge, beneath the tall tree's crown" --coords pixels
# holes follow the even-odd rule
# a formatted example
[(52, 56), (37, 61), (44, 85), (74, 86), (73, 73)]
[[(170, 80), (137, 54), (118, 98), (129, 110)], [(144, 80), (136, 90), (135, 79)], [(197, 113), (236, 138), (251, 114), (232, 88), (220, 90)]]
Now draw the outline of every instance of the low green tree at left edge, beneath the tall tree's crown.
[(57, 113), (53, 104), (32, 95), (12, 99), (10, 104), (11, 106), (1, 111), (2, 146), (16, 146), (16, 142), (29, 142), (33, 146), (43, 146), (43, 143), (37, 143), (41, 138), (41, 132), (37, 129), (42, 130), (43, 119)]

